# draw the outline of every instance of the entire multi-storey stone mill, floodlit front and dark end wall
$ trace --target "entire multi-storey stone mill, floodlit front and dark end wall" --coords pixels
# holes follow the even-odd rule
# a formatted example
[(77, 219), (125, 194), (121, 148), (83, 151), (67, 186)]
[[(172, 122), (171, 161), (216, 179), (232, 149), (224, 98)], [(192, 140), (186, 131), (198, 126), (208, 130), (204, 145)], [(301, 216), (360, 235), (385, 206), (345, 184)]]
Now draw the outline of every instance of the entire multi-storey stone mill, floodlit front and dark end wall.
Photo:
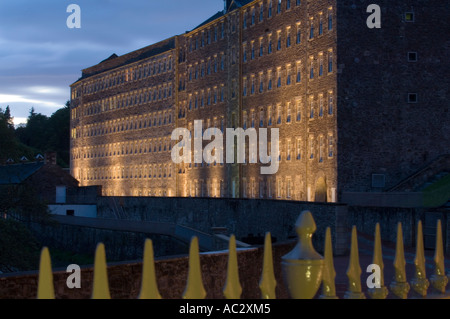
[[(344, 191), (386, 190), (448, 152), (450, 83), (439, 70), (449, 51), (438, 48), (449, 41), (433, 34), (448, 26), (448, 1), (380, 1), (381, 29), (366, 25), (370, 1), (224, 2), (194, 30), (113, 55), (72, 84), (71, 172), (81, 186), (336, 202)], [(245, 163), (175, 164), (173, 130), (201, 137), (198, 120), (259, 137), (278, 128), (278, 172), (250, 163), (251, 138)]]

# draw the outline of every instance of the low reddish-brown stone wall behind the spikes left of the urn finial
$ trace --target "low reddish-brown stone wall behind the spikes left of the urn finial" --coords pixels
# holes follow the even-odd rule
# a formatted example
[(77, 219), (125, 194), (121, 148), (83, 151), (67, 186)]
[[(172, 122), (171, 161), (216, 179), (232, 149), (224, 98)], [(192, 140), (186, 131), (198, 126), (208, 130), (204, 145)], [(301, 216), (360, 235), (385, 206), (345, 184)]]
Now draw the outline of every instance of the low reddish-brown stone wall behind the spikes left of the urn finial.
[[(274, 245), (274, 271), (277, 280), (277, 298), (287, 298), (281, 277), (281, 257), (293, 248), (293, 244)], [(215, 253), (201, 255), (202, 278), (207, 298), (223, 298), (228, 254)], [(263, 249), (238, 251), (239, 278), (242, 298), (260, 299), (258, 287), (262, 272)], [(164, 299), (180, 299), (186, 287), (188, 273), (187, 256), (157, 260), (156, 278), (160, 294)], [(113, 299), (135, 299), (141, 287), (142, 263), (110, 264), (108, 278)], [(81, 288), (66, 286), (68, 274), (64, 270), (55, 271), (55, 295), (57, 299), (87, 299), (92, 292), (93, 268), (82, 268)], [(22, 273), (0, 277), (0, 299), (34, 299), (37, 293), (38, 274)]]

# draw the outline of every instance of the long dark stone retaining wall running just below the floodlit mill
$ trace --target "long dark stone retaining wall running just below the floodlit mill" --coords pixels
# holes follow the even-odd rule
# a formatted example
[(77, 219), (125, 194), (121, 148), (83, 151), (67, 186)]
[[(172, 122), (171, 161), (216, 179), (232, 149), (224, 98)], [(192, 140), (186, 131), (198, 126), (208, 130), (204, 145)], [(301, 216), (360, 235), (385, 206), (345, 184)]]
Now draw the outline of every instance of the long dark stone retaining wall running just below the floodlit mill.
[(271, 232), (278, 241), (296, 238), (295, 222), (304, 210), (313, 213), (317, 224), (315, 246), (321, 250), (326, 227), (331, 227), (335, 252), (347, 251), (347, 208), (344, 205), (251, 199), (118, 197), (100, 198), (99, 218), (117, 218), (115, 201), (121, 218), (168, 222), (212, 233), (213, 227), (225, 227), (228, 235), (242, 240), (249, 235)]

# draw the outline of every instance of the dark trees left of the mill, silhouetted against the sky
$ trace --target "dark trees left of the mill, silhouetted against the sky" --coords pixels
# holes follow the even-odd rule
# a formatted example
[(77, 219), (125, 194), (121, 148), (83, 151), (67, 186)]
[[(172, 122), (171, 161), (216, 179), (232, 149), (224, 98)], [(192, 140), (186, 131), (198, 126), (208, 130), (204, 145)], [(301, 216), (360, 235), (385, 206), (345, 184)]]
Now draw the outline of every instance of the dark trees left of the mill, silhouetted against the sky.
[(11, 110), (0, 108), (0, 164), (12, 159), (21, 162), (23, 156), (34, 161), (38, 154), (56, 152), (58, 164), (69, 167), (70, 102), (50, 117), (36, 113), (32, 107), (27, 123), (14, 127)]

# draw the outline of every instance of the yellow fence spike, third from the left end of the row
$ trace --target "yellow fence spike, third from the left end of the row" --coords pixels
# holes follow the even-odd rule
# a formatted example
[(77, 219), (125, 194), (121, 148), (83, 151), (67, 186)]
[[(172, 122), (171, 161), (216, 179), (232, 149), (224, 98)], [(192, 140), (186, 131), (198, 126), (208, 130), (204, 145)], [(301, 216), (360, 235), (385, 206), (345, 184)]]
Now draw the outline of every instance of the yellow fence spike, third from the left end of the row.
[(142, 264), (142, 283), (139, 299), (161, 299), (155, 274), (155, 260), (153, 257), (153, 242), (145, 240), (144, 261)]

